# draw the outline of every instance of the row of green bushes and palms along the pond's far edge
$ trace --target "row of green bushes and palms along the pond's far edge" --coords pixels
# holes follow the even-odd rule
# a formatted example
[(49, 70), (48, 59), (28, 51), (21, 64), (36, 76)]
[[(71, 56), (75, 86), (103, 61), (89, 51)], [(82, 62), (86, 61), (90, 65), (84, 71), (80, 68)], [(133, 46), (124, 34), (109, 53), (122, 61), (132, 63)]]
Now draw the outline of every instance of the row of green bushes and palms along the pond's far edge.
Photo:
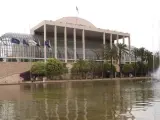
[[(129, 55), (129, 50), (125, 44), (118, 43), (117, 45), (103, 45), (101, 50), (94, 51), (98, 58), (96, 60), (78, 60), (73, 63), (71, 68), (72, 79), (94, 79), (94, 78), (108, 78), (114, 77), (116, 71), (115, 64), (119, 65), (120, 72), (117, 77), (121, 75), (146, 76), (155, 71), (159, 67), (159, 53), (153, 55), (152, 52), (145, 48), (134, 48)], [(121, 59), (123, 54), (134, 56), (133, 63), (122, 64)], [(154, 57), (154, 59), (153, 59)], [(119, 62), (118, 62), (119, 61)], [(49, 79), (54, 79), (55, 76), (61, 76), (68, 73), (68, 68), (65, 64), (57, 59), (48, 59), (44, 62), (34, 62), (31, 68), (31, 74), (37, 76), (46, 76)]]

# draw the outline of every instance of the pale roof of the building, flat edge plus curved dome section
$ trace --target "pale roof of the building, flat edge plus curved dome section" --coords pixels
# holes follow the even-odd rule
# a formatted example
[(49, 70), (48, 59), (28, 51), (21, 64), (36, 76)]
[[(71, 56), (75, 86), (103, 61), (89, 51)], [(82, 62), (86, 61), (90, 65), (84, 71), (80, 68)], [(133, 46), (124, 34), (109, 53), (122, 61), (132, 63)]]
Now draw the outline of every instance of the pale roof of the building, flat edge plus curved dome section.
[[(58, 27), (76, 28), (76, 29), (80, 29), (80, 30), (84, 29), (87, 31), (100, 32), (100, 33), (105, 32), (105, 33), (109, 33), (109, 34), (118, 34), (118, 35), (124, 36), (124, 37), (130, 36), (129, 33), (113, 31), (113, 30), (109, 30), (109, 29), (97, 28), (89, 21), (84, 20), (82, 18), (77, 18), (77, 17), (64, 17), (64, 18), (58, 19), (56, 21), (44, 20), (31, 29), (31, 34), (34, 34), (35, 31), (43, 32), (44, 24), (50, 25), (50, 26), (56, 25)], [(49, 28), (47, 29), (47, 32), (51, 32), (51, 31), (53, 32), (53, 30), (50, 30)]]

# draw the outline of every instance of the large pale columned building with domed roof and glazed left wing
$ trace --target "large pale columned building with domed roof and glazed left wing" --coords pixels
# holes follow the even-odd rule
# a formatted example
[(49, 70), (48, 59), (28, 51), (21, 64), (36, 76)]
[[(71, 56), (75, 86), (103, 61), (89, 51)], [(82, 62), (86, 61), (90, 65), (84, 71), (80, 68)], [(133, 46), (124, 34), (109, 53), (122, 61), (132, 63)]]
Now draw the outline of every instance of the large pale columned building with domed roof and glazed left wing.
[[(19, 40), (19, 44), (11, 42)], [(5, 61), (29, 61), (57, 58), (65, 63), (78, 59), (98, 58), (95, 50), (103, 44), (111, 47), (115, 41), (128, 40), (130, 34), (95, 27), (78, 17), (63, 17), (56, 21), (44, 20), (31, 29), (31, 34), (7, 33), (1, 36), (0, 56)], [(129, 58), (131, 62), (131, 58)]]

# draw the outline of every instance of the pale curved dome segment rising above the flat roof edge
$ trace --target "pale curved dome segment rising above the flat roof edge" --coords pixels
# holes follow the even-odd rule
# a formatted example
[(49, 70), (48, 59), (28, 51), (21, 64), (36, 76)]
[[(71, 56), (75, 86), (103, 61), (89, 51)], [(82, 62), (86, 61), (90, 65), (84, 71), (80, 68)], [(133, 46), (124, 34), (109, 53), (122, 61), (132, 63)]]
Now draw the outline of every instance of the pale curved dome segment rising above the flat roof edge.
[(63, 18), (56, 20), (55, 22), (62, 22), (62, 23), (68, 23), (68, 24), (78, 24), (81, 26), (96, 28), (91, 22), (89, 22), (85, 19), (79, 18), (79, 17), (63, 17)]

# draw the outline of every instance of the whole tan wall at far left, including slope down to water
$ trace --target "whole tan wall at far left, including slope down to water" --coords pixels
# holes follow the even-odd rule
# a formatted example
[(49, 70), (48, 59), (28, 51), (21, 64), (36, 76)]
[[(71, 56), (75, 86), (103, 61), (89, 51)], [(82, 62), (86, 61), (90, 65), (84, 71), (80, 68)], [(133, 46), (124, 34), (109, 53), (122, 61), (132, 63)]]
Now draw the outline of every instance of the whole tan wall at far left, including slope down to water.
[(31, 68), (30, 62), (0, 62), (0, 83), (19, 81), (19, 74)]

